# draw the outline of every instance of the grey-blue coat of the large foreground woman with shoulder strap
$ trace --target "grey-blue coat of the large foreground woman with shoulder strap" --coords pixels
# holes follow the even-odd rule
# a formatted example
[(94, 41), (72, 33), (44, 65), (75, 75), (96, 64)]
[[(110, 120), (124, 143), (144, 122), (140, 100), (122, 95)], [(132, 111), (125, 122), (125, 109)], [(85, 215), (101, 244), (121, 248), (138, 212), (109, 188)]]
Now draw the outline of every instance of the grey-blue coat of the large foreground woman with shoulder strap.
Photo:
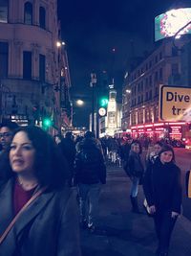
[[(0, 192), (0, 235), (13, 218), (10, 179)], [(76, 200), (69, 188), (44, 192), (0, 244), (0, 256), (79, 256)]]

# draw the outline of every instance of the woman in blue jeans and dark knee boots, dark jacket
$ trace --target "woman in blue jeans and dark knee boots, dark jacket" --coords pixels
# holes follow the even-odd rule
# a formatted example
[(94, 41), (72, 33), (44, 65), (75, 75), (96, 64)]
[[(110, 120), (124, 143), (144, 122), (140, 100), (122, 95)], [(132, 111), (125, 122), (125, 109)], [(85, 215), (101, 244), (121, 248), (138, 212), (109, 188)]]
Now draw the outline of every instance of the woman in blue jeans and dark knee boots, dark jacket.
[(142, 176), (144, 174), (144, 168), (140, 159), (140, 144), (133, 143), (131, 145), (131, 151), (129, 153), (129, 158), (127, 161), (127, 174), (130, 176), (132, 181), (132, 187), (131, 187), (131, 193), (130, 193), (130, 199), (132, 203), (132, 211), (134, 213), (139, 213), (138, 209), (138, 184), (140, 183), (140, 180), (142, 179)]

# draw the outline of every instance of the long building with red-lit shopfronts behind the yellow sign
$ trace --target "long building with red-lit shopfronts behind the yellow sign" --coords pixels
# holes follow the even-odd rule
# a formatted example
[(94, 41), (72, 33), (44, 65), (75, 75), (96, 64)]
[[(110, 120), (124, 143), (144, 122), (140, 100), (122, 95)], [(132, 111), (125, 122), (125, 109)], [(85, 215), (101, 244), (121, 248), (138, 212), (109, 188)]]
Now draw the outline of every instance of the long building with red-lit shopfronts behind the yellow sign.
[[(122, 91), (122, 129), (131, 128), (134, 137), (170, 136), (180, 139), (185, 123), (159, 122), (159, 84), (183, 86), (182, 51), (189, 41), (182, 36), (174, 45), (172, 38), (159, 42), (156, 49), (131, 73), (127, 73)], [(174, 130), (174, 131), (173, 131)]]

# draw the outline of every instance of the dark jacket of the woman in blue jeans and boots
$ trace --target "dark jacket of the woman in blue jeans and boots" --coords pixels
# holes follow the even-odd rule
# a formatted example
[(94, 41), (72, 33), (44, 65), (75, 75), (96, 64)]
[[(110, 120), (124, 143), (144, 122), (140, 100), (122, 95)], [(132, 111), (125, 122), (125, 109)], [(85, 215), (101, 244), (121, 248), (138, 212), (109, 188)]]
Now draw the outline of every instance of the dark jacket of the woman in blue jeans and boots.
[(132, 176), (141, 177), (144, 173), (144, 168), (141, 163), (139, 153), (135, 151), (130, 151), (128, 158), (128, 168)]

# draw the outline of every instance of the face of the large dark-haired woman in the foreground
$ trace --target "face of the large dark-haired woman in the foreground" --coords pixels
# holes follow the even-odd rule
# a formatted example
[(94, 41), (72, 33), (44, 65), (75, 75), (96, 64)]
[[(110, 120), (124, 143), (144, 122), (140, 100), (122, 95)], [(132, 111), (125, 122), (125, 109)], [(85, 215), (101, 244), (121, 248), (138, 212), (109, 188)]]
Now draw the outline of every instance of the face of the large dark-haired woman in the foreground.
[(11, 169), (17, 174), (32, 173), (35, 150), (32, 141), (24, 131), (17, 132), (11, 142)]

